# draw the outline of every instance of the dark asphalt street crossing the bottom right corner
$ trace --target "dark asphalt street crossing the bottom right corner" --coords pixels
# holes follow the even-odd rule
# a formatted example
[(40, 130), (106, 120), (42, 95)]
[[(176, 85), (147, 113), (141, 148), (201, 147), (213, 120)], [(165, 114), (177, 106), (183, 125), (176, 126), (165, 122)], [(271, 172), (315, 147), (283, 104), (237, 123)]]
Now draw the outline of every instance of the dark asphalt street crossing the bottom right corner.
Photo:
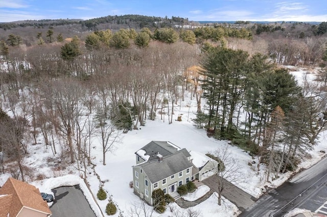
[(326, 183), (327, 157), (263, 195), (239, 216), (279, 217), (296, 207), (315, 211), (327, 198)]

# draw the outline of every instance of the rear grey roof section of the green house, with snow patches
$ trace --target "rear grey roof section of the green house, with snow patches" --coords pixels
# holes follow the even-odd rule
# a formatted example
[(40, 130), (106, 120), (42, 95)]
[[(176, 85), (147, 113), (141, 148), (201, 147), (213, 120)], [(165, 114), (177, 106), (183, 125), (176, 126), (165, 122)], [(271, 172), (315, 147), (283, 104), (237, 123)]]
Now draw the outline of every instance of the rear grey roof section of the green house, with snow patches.
[[(177, 151), (180, 150), (182, 150), (180, 147), (174, 145), (171, 142), (151, 141), (149, 144), (136, 151), (135, 154), (148, 161), (156, 159), (157, 154), (161, 154), (163, 157), (165, 157), (175, 154)], [(184, 153), (186, 157), (191, 156), (188, 152), (186, 152)]]

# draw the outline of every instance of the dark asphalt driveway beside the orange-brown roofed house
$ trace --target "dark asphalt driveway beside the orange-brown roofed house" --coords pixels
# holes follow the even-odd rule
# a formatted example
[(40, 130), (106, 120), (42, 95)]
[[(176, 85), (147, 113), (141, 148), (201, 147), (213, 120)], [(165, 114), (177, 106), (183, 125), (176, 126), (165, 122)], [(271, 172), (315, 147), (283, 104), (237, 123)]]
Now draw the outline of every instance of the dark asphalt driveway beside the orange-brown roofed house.
[(52, 217), (96, 217), (79, 185), (52, 189), (55, 201), (50, 207)]

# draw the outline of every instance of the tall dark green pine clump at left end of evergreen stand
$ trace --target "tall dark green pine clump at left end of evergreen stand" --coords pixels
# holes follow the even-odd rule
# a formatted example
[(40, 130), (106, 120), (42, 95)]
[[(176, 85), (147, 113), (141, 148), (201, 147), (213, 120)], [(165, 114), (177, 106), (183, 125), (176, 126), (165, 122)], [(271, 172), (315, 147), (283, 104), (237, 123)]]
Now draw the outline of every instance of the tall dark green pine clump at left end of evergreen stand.
[(247, 59), (245, 51), (215, 47), (201, 61), (203, 96), (209, 105), (207, 128), (219, 129), (223, 138), (232, 132), (234, 113), (244, 92)]

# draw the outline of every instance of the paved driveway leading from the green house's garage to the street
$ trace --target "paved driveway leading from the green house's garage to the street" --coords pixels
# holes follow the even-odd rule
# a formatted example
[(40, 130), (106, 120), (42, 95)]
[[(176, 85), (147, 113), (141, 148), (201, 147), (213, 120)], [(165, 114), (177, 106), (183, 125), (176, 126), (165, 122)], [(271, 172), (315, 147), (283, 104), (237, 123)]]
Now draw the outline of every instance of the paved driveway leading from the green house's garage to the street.
[[(217, 175), (213, 175), (211, 177), (208, 177), (204, 180), (202, 180), (202, 183), (210, 187), (213, 191), (218, 193), (218, 181), (217, 181)], [(238, 188), (237, 186), (231, 184), (230, 182), (224, 180), (224, 190), (222, 192), (222, 195), (235, 204), (241, 211), (247, 209), (255, 202), (253, 201), (255, 198), (253, 198), (251, 195), (244, 192), (242, 189)]]

